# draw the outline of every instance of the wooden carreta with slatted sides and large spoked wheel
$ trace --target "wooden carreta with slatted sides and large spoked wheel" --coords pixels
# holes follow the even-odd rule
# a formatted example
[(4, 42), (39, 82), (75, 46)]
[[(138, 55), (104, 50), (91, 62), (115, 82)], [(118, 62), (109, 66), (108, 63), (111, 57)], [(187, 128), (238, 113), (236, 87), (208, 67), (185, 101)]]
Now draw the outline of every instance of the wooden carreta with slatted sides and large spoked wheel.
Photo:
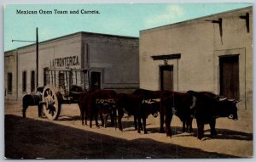
[(89, 69), (44, 70), (42, 106), (49, 120), (57, 120), (61, 104), (78, 103), (79, 95), (90, 89)]

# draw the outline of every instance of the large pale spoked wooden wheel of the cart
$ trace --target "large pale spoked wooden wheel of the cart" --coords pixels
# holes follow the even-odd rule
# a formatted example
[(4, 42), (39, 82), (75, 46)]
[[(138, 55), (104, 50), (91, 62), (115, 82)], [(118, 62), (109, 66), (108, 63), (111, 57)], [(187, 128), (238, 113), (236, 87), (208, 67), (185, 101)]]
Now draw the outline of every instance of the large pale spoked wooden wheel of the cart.
[(45, 86), (43, 91), (44, 115), (49, 120), (57, 120), (61, 113), (62, 95), (56, 87)]

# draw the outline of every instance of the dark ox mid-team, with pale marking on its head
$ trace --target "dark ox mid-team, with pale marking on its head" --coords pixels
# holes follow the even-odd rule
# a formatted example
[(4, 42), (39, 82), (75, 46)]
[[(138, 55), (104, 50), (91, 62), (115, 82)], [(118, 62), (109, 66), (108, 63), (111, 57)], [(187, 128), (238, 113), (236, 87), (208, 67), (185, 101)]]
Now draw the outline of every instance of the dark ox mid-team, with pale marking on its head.
[[(140, 133), (144, 129), (144, 133), (147, 134), (146, 119), (150, 114), (157, 117), (157, 102), (157, 99), (147, 99), (140, 95), (119, 93), (116, 100), (116, 106), (119, 110), (119, 130), (122, 131), (123, 129), (121, 119), (125, 111), (129, 116), (133, 115), (135, 130)], [(143, 124), (141, 120), (143, 120)]]

